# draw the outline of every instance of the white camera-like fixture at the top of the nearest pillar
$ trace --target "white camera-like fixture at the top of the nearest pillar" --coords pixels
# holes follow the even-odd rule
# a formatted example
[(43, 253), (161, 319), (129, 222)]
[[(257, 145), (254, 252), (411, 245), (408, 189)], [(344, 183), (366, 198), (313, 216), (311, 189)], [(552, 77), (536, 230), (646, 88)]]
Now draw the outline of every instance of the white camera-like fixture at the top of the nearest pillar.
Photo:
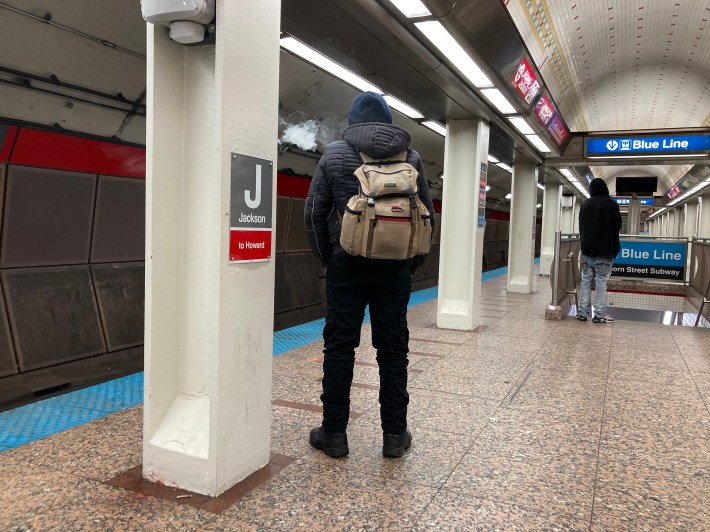
[(146, 22), (170, 28), (170, 38), (180, 44), (214, 41), (215, 0), (141, 0)]

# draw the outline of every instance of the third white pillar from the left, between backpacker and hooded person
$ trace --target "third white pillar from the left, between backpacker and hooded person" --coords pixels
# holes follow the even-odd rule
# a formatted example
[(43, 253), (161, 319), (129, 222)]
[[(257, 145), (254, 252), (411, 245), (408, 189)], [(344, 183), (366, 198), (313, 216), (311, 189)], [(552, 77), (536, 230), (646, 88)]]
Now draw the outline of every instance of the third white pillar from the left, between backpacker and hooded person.
[(513, 166), (508, 235), (508, 292), (529, 294), (533, 288), (537, 173), (532, 164)]

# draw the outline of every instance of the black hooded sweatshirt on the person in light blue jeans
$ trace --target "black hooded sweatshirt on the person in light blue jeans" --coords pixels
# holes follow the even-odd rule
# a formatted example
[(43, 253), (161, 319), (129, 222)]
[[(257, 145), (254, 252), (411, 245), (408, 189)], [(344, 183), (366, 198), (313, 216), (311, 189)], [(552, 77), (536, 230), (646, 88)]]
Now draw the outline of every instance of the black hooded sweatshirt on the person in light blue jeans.
[(621, 249), (621, 213), (619, 205), (609, 197), (603, 179), (593, 179), (589, 184), (590, 198), (579, 209), (579, 235), (582, 254), (588, 257), (613, 259)]

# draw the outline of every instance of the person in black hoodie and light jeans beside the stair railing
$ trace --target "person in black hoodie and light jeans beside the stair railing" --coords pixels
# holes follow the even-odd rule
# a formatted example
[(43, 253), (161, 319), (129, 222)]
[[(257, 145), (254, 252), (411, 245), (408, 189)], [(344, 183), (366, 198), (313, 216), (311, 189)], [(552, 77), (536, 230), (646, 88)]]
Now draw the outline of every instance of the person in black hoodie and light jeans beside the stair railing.
[(595, 281), (594, 323), (607, 323), (614, 318), (606, 314), (606, 282), (611, 275), (614, 257), (621, 249), (621, 213), (619, 205), (609, 197), (603, 179), (592, 179), (590, 197), (579, 209), (579, 236), (582, 241), (582, 285), (577, 319), (587, 321)]

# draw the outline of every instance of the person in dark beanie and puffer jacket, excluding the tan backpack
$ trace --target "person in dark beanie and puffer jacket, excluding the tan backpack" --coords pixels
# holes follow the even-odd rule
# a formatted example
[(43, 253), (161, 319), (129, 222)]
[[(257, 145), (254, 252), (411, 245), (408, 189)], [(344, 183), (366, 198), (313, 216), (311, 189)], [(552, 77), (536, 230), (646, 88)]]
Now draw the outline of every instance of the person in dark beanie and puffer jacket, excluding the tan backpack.
[[(372, 345), (377, 349), (380, 370), (382, 453), (399, 457), (412, 442), (407, 430), (407, 304), (411, 273), (424, 257), (378, 260), (351, 256), (340, 246), (340, 215), (348, 200), (358, 193), (358, 180), (353, 172), (363, 162), (359, 152), (385, 159), (408, 150), (411, 138), (405, 130), (392, 125), (387, 102), (374, 92), (364, 92), (355, 98), (348, 123), (344, 140), (326, 147), (305, 207), (309, 244), (328, 267), (323, 329), (323, 423), (311, 431), (310, 443), (331, 457), (346, 456), (349, 452), (346, 429), (355, 348), (360, 345), (360, 329), (369, 303)], [(434, 208), (419, 154), (409, 149), (407, 162), (419, 172), (418, 193), (432, 214), (433, 229)]]

